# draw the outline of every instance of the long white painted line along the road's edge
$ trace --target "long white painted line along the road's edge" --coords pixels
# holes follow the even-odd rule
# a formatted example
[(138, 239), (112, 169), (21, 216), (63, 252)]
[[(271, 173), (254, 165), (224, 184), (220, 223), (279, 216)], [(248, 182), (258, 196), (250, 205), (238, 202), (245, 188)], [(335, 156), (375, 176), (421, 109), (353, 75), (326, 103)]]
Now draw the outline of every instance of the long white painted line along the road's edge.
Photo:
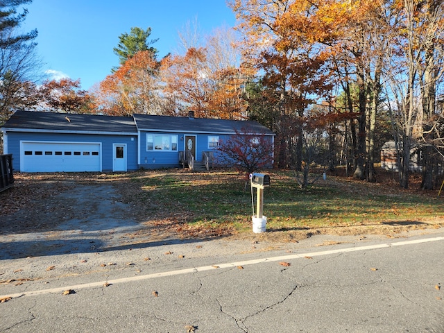
[[(138, 275), (138, 276), (134, 276), (131, 278), (108, 280), (106, 282), (108, 282), (108, 284), (135, 282), (135, 281), (142, 281), (142, 280), (148, 280), (148, 279), (154, 279), (154, 278), (164, 278), (164, 277), (169, 277), (169, 276), (173, 276), (173, 275), (182, 275), (182, 274), (210, 271), (210, 270), (221, 269), (221, 268), (233, 268), (233, 267), (237, 267), (237, 266), (255, 265), (255, 264), (261, 264), (264, 262), (278, 262), (278, 261), (282, 261), (282, 260), (301, 259), (301, 258), (305, 258), (305, 257), (318, 257), (321, 255), (334, 255), (334, 254), (338, 254), (338, 253), (349, 253), (349, 252), (357, 252), (357, 251), (365, 251), (365, 250), (375, 250), (375, 249), (379, 249), (379, 248), (390, 248), (391, 246), (407, 246), (407, 245), (412, 245), (412, 244), (429, 243), (431, 241), (444, 241), (444, 237), (416, 239), (413, 241), (398, 241), (398, 242), (394, 242), (394, 243), (377, 244), (377, 245), (370, 245), (370, 246), (357, 246), (357, 247), (352, 247), (352, 248), (338, 248), (335, 250), (307, 252), (307, 253), (299, 253), (299, 254), (293, 254), (293, 255), (280, 255), (278, 257), (268, 257), (268, 258), (262, 258), (262, 259), (245, 260), (242, 262), (228, 262), (228, 263), (224, 263), (224, 264), (214, 264), (212, 266), (200, 266), (200, 267), (194, 267), (194, 268), (185, 268), (185, 269), (180, 269), (178, 271), (166, 271), (166, 272), (161, 272), (161, 273)], [(10, 295), (0, 296), (0, 299), (8, 298), (8, 297), (17, 298), (17, 297), (22, 297), (22, 296), (38, 296), (38, 295), (44, 295), (46, 293), (62, 293), (62, 291), (69, 290), (69, 289), (76, 291), (79, 289), (102, 287), (103, 284), (105, 284), (105, 282), (101, 281), (101, 282), (92, 282), (92, 283), (85, 283), (85, 284), (76, 284), (76, 285), (67, 286), (67, 287), (42, 289), (42, 290), (36, 290), (36, 291), (25, 291), (23, 293), (14, 293), (14, 294), (10, 294)]]

